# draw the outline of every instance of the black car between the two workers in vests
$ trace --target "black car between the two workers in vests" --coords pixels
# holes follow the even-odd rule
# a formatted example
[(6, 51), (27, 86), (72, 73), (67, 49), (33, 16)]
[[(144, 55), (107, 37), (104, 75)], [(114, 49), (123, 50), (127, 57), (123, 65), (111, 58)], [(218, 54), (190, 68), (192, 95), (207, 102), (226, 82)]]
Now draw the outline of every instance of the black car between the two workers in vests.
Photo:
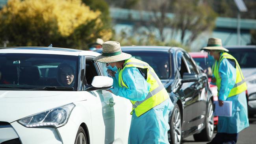
[[(213, 95), (208, 78), (182, 48), (124, 46), (122, 52), (147, 62), (156, 72), (174, 104), (169, 114), (171, 144), (193, 135), (196, 141), (213, 137)], [(100, 50), (98, 52), (101, 53)]]

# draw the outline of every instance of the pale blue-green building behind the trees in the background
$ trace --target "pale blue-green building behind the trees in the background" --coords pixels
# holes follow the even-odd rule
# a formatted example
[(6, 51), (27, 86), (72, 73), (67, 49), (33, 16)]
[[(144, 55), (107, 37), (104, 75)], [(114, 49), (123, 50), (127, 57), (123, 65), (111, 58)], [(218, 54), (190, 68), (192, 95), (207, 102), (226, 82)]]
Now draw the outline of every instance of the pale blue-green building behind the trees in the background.
[[(137, 21), (144, 20), (147, 22), (152, 12), (138, 11), (133, 9), (110, 8), (110, 15), (113, 19), (113, 26), (116, 33), (125, 31), (131, 33)], [(173, 14), (168, 13), (167, 17), (172, 18)], [(143, 27), (141, 27), (143, 29)], [(256, 30), (255, 19), (241, 19), (241, 45), (248, 45), (251, 42), (250, 30)], [(170, 33), (171, 28), (165, 28)], [(168, 32), (169, 31), (169, 32)], [(156, 30), (155, 33), (158, 33)], [(176, 33), (179, 35), (180, 33)], [(168, 35), (166, 35), (168, 37)], [(237, 44), (237, 19), (218, 17), (215, 22), (215, 29), (212, 33), (202, 33), (196, 41), (192, 43), (191, 51), (198, 51), (207, 44), (209, 37), (218, 37), (222, 39), (224, 46)], [(175, 39), (179, 41), (179, 39)]]

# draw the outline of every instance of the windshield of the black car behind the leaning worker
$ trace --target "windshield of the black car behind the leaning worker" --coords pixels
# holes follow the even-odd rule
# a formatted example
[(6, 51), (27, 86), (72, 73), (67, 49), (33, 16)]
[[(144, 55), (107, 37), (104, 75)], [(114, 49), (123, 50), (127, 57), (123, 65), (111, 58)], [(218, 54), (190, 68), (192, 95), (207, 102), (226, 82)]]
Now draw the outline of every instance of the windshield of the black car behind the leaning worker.
[(136, 59), (148, 63), (160, 79), (168, 79), (170, 77), (171, 70), (169, 53), (158, 51), (122, 51), (131, 54)]

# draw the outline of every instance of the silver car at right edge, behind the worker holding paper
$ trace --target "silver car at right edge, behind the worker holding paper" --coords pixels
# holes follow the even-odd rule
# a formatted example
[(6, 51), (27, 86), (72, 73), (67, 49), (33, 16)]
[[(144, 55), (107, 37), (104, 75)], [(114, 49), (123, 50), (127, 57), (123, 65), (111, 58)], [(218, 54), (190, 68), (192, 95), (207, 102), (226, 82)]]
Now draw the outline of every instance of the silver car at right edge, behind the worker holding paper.
[(256, 46), (225, 46), (241, 67), (247, 83), (248, 114), (256, 114)]

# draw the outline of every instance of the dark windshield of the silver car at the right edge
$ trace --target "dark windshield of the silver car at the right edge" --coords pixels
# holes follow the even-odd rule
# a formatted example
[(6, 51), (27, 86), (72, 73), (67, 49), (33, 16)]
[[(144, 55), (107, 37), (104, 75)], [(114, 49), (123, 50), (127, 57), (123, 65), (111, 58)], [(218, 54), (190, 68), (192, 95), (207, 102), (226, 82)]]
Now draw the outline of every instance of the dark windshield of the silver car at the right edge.
[(236, 58), (241, 68), (256, 68), (255, 48), (234, 48), (229, 49), (228, 53)]

